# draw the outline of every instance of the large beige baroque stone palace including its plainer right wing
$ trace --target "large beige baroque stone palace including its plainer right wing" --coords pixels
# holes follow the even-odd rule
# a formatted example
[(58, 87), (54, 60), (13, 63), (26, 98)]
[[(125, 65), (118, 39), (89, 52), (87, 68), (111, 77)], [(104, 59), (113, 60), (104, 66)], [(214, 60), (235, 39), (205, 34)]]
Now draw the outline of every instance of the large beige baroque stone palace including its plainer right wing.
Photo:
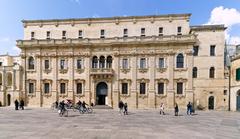
[(96, 105), (228, 109), (223, 25), (190, 26), (190, 14), (24, 20), (22, 88), (12, 100), (49, 107)]

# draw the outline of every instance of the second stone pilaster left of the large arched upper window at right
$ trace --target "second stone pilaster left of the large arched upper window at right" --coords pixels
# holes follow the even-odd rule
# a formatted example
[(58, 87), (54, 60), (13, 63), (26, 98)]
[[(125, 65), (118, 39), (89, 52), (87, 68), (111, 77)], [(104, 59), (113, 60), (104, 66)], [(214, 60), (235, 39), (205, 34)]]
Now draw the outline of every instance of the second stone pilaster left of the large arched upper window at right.
[(155, 99), (155, 56), (150, 56), (148, 59), (148, 69), (149, 69), (149, 92), (148, 92), (148, 107), (156, 108), (156, 99)]

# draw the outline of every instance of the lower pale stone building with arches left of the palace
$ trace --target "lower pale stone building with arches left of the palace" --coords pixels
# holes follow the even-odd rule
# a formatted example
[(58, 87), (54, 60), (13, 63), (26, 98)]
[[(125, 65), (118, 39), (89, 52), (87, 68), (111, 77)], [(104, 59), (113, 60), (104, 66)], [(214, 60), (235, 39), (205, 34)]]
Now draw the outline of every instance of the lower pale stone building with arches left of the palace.
[(22, 75), (21, 57), (0, 55), (0, 106), (13, 105), (21, 98)]

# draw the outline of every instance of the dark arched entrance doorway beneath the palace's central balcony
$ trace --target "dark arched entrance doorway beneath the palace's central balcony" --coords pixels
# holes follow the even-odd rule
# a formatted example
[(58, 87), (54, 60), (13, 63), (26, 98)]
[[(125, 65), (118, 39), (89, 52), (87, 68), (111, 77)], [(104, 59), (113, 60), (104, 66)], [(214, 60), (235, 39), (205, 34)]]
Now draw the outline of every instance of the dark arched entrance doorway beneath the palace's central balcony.
[(108, 93), (108, 86), (105, 82), (100, 82), (97, 84), (97, 94), (96, 94), (96, 104), (97, 105), (105, 105), (106, 104), (106, 96)]

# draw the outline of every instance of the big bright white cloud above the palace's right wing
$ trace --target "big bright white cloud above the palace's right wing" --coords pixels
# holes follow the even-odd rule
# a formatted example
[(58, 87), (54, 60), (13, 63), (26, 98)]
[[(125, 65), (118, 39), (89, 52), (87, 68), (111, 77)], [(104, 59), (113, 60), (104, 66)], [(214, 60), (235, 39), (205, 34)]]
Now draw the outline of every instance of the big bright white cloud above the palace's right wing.
[(234, 25), (240, 25), (240, 11), (234, 8), (216, 7), (211, 12), (211, 17), (206, 24), (224, 24), (228, 29), (225, 32), (227, 43), (239, 44), (240, 36), (231, 36), (230, 31)]

